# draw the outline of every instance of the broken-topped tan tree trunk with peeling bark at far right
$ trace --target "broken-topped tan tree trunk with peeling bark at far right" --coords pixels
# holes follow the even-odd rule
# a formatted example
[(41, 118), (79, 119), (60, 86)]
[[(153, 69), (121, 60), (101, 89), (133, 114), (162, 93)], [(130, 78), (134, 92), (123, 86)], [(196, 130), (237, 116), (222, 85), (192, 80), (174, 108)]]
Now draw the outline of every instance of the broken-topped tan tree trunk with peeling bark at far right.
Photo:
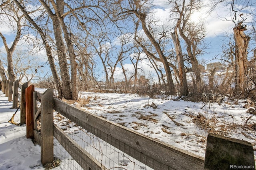
[(236, 85), (235, 93), (244, 95), (247, 88), (247, 48), (250, 41), (250, 37), (244, 34), (247, 30), (246, 26), (242, 25), (242, 22), (238, 23), (237, 26), (233, 28), (234, 40), (236, 43)]

